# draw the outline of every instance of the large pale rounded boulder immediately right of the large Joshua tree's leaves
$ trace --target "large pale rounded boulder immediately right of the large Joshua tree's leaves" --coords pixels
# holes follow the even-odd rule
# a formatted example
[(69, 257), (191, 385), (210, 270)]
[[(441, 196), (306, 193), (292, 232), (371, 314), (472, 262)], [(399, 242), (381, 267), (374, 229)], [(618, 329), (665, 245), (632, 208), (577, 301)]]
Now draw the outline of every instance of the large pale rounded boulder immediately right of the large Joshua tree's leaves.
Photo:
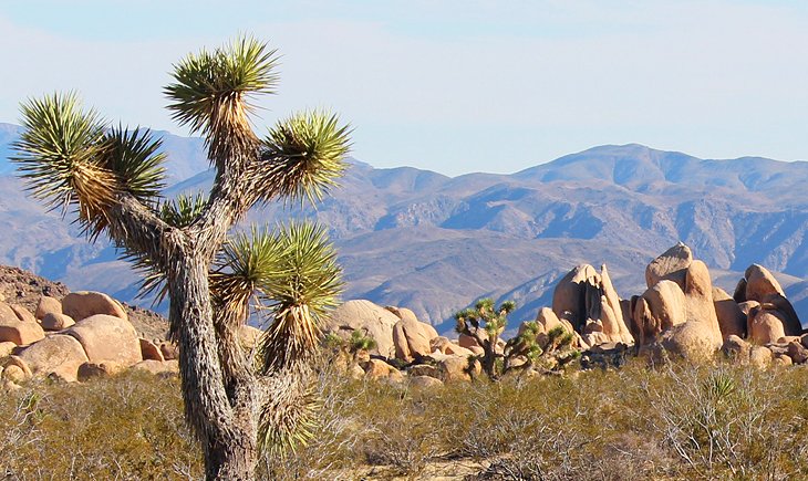
[(370, 301), (356, 300), (336, 307), (323, 321), (321, 330), (324, 334), (333, 333), (344, 339), (351, 337), (354, 331), (361, 331), (376, 342), (371, 354), (394, 357), (393, 326), (397, 322), (398, 317), (384, 307)]

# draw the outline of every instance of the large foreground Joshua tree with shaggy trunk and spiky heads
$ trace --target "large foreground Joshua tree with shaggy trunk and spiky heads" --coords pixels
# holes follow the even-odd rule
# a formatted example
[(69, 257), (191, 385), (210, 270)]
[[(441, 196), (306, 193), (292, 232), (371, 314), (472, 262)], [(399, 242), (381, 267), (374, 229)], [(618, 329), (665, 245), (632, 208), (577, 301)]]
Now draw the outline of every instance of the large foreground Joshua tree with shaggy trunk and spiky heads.
[[(168, 296), (186, 419), (208, 479), (252, 479), (259, 449), (305, 439), (317, 318), (341, 289), (333, 249), (312, 224), (228, 240), (251, 206), (320, 199), (345, 166), (349, 128), (334, 115), (303, 112), (263, 138), (253, 133), (252, 100), (273, 93), (276, 66), (276, 52), (250, 38), (174, 66), (168, 108), (205, 138), (216, 171), (207, 197), (160, 200), (160, 142), (108, 128), (74, 94), (21, 107), (14, 160), (31, 195), (63, 216), (74, 210), (90, 239), (107, 236), (149, 271), (145, 287)], [(258, 355), (238, 338), (253, 296), (271, 321)]]

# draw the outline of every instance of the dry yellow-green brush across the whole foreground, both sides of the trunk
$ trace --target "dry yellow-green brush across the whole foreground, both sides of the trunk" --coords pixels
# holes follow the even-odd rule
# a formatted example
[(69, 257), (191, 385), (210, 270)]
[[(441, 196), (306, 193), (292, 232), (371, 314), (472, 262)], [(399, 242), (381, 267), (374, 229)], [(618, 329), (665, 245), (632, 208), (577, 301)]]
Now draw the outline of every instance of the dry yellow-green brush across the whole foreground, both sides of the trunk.
[[(428, 479), (436, 467), (491, 480), (808, 479), (804, 367), (629, 363), (434, 390), (324, 370), (320, 393), (314, 441), (262, 459), (261, 479)], [(0, 469), (198, 478), (180, 406), (176, 380), (134, 374), (25, 388), (0, 400)]]

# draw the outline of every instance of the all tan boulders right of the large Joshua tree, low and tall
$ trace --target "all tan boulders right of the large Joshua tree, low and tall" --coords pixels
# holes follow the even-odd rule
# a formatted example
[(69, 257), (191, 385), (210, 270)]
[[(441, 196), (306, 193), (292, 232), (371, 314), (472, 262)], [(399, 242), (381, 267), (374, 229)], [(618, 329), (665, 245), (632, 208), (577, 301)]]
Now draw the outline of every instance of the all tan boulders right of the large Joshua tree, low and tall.
[[(680, 242), (646, 266), (645, 282), (645, 292), (621, 299), (605, 265), (600, 272), (588, 264), (572, 269), (556, 285), (552, 306), (536, 316), (537, 341), (543, 345), (542, 336), (561, 327), (574, 336), (572, 347), (584, 353), (582, 359), (624, 359), (634, 352), (654, 362), (703, 362), (723, 351), (737, 363), (762, 367), (808, 360), (808, 334), (780, 284), (760, 265), (749, 266), (729, 295)], [(360, 331), (376, 341), (373, 349), (354, 356), (349, 367), (354, 377), (400, 381), (408, 376), (429, 386), (468, 380), (479, 374), (469, 356), (484, 354), (474, 337), (439, 336), (411, 310), (370, 301), (344, 303), (324, 330), (344, 339)], [(498, 347), (505, 344), (500, 339)]]

